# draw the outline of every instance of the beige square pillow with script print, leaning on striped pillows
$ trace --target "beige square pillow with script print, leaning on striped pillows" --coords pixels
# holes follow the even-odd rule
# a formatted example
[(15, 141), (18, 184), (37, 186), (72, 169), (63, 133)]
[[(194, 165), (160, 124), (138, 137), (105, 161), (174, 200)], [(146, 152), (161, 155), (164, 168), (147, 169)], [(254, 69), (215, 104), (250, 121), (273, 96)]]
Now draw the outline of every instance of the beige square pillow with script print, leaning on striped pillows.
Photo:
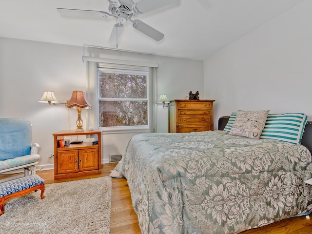
[(268, 114), (269, 110), (238, 110), (229, 135), (259, 139)]

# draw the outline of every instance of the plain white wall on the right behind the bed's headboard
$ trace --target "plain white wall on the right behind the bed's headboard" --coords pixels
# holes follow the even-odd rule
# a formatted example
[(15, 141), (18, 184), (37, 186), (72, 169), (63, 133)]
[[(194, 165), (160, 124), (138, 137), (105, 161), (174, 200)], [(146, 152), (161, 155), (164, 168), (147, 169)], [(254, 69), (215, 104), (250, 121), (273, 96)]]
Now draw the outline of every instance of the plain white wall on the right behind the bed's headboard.
[(205, 98), (214, 121), (233, 111), (300, 112), (312, 119), (312, 1), (234, 42), (204, 61)]

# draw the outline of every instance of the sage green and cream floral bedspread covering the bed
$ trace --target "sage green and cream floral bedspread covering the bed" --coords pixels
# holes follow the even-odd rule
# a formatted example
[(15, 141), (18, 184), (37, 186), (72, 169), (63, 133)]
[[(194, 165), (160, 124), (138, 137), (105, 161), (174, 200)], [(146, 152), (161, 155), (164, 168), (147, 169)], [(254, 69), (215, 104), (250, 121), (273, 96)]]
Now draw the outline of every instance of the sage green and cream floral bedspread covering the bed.
[(223, 131), (132, 137), (127, 178), (142, 234), (232, 234), (312, 211), (311, 153)]

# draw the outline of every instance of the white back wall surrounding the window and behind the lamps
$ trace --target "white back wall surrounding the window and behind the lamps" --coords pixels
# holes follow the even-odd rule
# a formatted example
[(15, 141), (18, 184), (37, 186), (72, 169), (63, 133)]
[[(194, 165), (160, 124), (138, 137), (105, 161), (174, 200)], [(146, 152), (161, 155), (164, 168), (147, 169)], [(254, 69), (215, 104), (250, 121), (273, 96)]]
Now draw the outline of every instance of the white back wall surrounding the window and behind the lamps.
[[(203, 93), (203, 61), (161, 56), (105, 51), (110, 59), (155, 62), (159, 64), (157, 96), (181, 99), (190, 90)], [(77, 111), (64, 105), (39, 103), (44, 90), (54, 91), (60, 102), (68, 100), (73, 90), (86, 90), (86, 64), (83, 47), (0, 37), (0, 118), (19, 117), (33, 124), (33, 142), (40, 145), (39, 168), (52, 169), (54, 160), (52, 133), (76, 128)], [(97, 55), (93, 55), (97, 56)], [(82, 119), (86, 112), (82, 110)], [(157, 132), (168, 131), (168, 109), (157, 106)], [(85, 121), (83, 124), (86, 126)], [(132, 134), (102, 136), (102, 161), (109, 154), (122, 153)]]

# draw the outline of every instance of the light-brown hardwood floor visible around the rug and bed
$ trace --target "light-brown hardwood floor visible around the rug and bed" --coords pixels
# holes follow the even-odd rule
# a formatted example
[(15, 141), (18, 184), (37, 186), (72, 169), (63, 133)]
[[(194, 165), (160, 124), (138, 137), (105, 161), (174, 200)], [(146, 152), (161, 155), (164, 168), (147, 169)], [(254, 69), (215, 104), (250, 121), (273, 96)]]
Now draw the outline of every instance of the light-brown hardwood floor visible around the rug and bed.
[[(39, 171), (47, 184), (70, 180), (109, 176), (116, 164), (103, 164), (102, 174), (98, 176), (85, 176), (75, 179), (54, 180), (54, 171)], [(140, 234), (137, 215), (132, 208), (129, 187), (126, 179), (112, 179), (112, 210), (111, 234)], [(245, 231), (241, 234), (312, 234), (312, 215), (285, 219), (268, 226)]]

